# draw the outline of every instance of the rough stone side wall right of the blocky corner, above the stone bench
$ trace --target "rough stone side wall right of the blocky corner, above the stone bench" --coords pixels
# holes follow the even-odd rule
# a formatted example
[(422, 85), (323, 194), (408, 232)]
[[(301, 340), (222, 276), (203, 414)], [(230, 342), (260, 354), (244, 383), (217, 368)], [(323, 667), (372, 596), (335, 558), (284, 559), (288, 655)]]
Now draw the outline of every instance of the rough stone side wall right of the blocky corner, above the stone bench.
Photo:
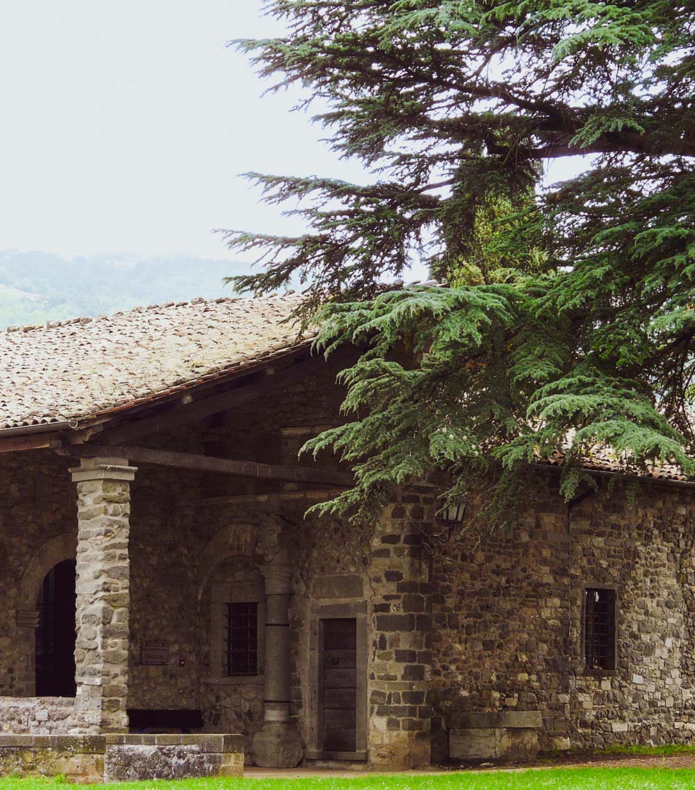
[[(529, 482), (518, 529), (463, 536), (434, 566), (433, 751), (462, 711), (540, 710), (543, 748), (692, 739), (693, 492), (599, 493), (568, 516)], [(618, 598), (618, 665), (584, 670), (586, 587)]]

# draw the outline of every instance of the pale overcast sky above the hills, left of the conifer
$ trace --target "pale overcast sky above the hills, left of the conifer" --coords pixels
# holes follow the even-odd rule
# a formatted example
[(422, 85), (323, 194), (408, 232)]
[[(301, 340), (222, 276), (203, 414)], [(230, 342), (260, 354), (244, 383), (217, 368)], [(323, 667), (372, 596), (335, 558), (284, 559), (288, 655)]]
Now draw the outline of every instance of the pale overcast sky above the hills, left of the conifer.
[(0, 249), (226, 258), (212, 228), (281, 228), (240, 172), (359, 177), (225, 46), (279, 29), (260, 9), (2, 0)]

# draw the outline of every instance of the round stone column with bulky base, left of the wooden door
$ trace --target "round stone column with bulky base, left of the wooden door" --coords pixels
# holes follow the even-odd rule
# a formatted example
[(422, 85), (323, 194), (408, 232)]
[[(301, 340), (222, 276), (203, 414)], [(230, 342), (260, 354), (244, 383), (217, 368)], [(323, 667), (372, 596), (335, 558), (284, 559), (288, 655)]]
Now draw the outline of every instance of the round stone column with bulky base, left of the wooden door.
[(264, 768), (294, 768), (302, 759), (302, 739), (290, 717), (291, 567), (265, 566), (265, 715), (254, 735), (254, 762)]

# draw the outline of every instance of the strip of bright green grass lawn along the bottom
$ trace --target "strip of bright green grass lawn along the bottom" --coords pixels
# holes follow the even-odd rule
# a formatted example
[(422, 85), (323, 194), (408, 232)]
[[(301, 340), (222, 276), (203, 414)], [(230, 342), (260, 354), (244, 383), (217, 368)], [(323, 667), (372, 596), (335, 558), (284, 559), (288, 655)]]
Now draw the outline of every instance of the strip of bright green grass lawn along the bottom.
[[(88, 786), (95, 790), (693, 790), (695, 769), (544, 769), (350, 779), (189, 779)], [(66, 790), (66, 781), (0, 779), (0, 790)]]

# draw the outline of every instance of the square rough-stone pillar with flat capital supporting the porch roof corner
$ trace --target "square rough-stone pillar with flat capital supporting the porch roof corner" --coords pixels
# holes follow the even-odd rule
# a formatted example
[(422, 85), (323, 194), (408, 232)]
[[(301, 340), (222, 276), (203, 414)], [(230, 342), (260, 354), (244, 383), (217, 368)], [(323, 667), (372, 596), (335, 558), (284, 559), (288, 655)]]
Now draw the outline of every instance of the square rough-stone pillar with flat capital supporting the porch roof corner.
[(73, 732), (127, 732), (130, 482), (124, 458), (83, 459), (77, 483)]

